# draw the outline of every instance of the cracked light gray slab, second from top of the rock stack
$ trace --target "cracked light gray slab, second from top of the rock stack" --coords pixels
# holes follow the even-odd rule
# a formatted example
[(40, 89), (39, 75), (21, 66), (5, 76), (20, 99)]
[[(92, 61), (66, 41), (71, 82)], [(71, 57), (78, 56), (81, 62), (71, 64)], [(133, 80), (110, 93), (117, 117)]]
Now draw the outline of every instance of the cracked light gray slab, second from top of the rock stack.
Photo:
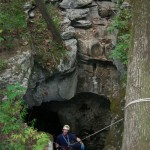
[(85, 18), (89, 13), (89, 8), (86, 9), (67, 9), (67, 16), (68, 18), (73, 20), (79, 20)]

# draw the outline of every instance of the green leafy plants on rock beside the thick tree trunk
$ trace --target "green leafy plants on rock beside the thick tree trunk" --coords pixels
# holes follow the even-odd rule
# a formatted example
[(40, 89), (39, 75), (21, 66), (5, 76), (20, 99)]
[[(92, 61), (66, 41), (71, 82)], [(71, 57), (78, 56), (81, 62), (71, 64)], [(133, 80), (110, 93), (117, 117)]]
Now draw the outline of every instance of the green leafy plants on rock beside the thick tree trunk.
[[(123, 2), (123, 1), (122, 1)], [(108, 30), (118, 32), (117, 44), (110, 54), (110, 58), (121, 61), (123, 64), (128, 63), (128, 50), (130, 44), (130, 20), (131, 12), (129, 8), (121, 8), (121, 2), (118, 2), (118, 13), (112, 21)]]

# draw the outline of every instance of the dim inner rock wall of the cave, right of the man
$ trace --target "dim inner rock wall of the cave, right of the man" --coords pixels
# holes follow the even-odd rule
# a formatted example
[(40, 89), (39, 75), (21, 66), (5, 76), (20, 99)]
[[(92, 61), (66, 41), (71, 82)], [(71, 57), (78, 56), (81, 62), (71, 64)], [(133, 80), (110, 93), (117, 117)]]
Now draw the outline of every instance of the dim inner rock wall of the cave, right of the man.
[[(69, 124), (71, 131), (81, 138), (108, 126), (111, 121), (109, 100), (92, 93), (77, 94), (65, 103), (52, 103), (50, 109), (57, 110), (61, 124)], [(86, 149), (102, 149), (108, 131), (84, 141)]]

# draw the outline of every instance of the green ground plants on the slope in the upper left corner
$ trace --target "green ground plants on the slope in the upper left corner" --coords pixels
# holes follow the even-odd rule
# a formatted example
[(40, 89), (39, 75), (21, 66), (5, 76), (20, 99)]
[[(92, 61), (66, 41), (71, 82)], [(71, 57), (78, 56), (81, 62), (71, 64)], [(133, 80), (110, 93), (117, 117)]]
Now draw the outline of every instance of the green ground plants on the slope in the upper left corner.
[[(23, 4), (25, 0), (2, 0), (0, 3), (0, 45), (3, 49), (12, 49), (13, 40), (27, 29)], [(25, 33), (23, 33), (25, 34)]]

